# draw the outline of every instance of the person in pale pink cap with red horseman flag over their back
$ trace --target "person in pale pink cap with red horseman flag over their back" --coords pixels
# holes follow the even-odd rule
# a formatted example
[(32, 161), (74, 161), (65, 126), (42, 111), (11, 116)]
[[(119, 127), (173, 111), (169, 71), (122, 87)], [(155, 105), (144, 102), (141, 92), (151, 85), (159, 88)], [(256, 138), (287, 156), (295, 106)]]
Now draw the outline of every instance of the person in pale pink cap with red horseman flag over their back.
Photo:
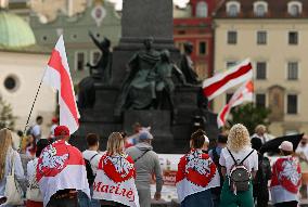
[(281, 157), (272, 166), (271, 197), (275, 207), (297, 207), (301, 181), (300, 166), (293, 157), (293, 144), (284, 141), (279, 146)]

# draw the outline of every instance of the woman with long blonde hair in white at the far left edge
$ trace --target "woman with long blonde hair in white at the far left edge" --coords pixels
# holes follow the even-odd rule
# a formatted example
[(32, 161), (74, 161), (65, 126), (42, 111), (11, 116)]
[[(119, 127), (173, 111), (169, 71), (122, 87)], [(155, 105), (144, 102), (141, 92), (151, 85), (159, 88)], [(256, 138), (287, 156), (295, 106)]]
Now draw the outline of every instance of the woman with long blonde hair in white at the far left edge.
[(12, 169), (12, 161), (14, 161), (15, 166), (15, 177), (17, 180), (23, 180), (24, 169), (22, 166), (22, 160), (20, 154), (13, 150), (12, 147), (12, 133), (11, 130), (4, 128), (0, 130), (0, 206), (9, 207), (5, 204), (7, 197), (4, 196), (5, 192), (5, 183), (7, 176), (10, 173)]

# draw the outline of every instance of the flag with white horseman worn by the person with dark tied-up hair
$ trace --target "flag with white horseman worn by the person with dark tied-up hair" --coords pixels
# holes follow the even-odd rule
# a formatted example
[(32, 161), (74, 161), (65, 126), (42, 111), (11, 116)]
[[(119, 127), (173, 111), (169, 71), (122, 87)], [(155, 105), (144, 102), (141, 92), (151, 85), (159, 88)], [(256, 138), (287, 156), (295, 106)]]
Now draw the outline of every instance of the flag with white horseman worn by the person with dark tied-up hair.
[(189, 195), (219, 185), (219, 173), (207, 154), (192, 150), (181, 157), (176, 176), (176, 186), (180, 202), (183, 202)]

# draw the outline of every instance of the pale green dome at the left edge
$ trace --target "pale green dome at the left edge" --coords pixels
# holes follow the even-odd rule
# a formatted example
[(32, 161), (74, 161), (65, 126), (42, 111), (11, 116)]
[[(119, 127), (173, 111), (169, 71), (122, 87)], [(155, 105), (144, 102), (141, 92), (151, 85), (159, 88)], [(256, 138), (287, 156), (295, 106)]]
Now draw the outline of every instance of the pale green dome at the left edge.
[(0, 9), (0, 47), (20, 49), (34, 46), (35, 35), (22, 17)]

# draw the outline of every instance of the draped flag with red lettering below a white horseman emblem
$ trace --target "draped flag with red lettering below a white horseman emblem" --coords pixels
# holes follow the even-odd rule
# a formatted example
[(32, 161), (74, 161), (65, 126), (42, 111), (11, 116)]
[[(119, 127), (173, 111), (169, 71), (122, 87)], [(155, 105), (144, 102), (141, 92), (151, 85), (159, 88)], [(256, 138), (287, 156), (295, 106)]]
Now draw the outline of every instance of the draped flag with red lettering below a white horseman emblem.
[(99, 163), (93, 183), (93, 198), (139, 207), (134, 178), (136, 170), (131, 157), (105, 153)]

